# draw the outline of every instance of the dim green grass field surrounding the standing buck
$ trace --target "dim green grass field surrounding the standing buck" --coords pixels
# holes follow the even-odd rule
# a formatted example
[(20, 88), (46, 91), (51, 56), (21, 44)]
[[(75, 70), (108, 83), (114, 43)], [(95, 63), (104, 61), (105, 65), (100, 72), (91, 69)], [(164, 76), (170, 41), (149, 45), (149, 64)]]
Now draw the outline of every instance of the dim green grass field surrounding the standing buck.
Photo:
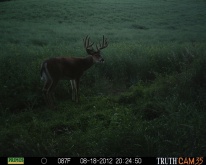
[[(0, 156), (206, 155), (205, 0), (0, 1)], [(108, 48), (45, 105), (41, 63)], [(69, 89), (69, 93), (68, 93)]]

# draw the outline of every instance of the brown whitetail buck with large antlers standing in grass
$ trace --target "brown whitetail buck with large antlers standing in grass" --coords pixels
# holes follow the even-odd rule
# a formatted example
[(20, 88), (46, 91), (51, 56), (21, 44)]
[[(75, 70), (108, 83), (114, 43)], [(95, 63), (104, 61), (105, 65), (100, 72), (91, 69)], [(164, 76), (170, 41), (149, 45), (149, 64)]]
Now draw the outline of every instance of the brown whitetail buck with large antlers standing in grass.
[(96, 44), (96, 50), (93, 49), (94, 42), (90, 43), (90, 38), (86, 36), (83, 39), (84, 47), (89, 56), (87, 57), (54, 57), (45, 60), (41, 66), (41, 79), (45, 81), (43, 94), (46, 102), (53, 105), (53, 92), (59, 80), (68, 79), (72, 86), (72, 100), (79, 102), (79, 81), (84, 71), (89, 69), (94, 63), (103, 63), (104, 59), (100, 50), (108, 46), (107, 39), (102, 43)]

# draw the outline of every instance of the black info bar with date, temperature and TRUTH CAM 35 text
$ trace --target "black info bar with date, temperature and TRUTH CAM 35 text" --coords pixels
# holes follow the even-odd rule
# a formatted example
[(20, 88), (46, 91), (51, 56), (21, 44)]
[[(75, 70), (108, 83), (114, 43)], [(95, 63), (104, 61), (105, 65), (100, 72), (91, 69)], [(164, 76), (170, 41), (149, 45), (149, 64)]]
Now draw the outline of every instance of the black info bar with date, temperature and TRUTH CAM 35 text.
[(0, 165), (206, 165), (206, 157), (1, 157)]

